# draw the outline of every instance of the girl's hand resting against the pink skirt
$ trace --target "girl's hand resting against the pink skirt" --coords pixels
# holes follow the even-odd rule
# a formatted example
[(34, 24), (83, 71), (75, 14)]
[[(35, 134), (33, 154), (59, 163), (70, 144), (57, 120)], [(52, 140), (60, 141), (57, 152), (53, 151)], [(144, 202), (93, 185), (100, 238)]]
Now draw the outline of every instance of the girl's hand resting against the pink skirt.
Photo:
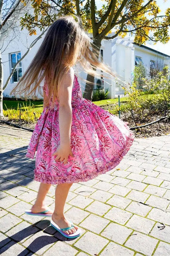
[(64, 161), (64, 164), (67, 164), (68, 161), (68, 157), (69, 155), (71, 157), (74, 157), (73, 153), (72, 153), (72, 149), (70, 147), (70, 145), (59, 145), (57, 150), (52, 154), (52, 156), (57, 156), (56, 158), (54, 158), (55, 161)]

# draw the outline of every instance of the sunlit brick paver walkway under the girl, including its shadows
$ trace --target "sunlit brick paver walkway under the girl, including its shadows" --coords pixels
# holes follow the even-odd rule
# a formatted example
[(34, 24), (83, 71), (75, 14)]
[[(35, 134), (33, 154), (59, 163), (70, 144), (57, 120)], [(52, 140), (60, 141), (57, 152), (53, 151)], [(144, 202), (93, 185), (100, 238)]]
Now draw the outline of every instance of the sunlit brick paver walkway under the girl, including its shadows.
[[(0, 253), (3, 256), (169, 256), (170, 135), (135, 139), (121, 164), (74, 184), (66, 216), (82, 235), (65, 240), (47, 218), (25, 214), (39, 182), (25, 157), (31, 133), (0, 126)], [(55, 186), (46, 198), (54, 209)]]

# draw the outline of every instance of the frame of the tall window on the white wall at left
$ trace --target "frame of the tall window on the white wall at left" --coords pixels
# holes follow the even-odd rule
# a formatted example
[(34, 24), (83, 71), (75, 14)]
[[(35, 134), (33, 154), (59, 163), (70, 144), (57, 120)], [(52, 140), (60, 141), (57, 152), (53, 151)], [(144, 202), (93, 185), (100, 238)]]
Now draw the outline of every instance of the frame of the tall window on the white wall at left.
[[(20, 60), (20, 58), (21, 58), (21, 51), (16, 51), (16, 52), (13, 52), (13, 53), (9, 53), (10, 73), (13, 70), (12, 63), (16, 63), (16, 62), (12, 62), (12, 60), (13, 60), (12, 55), (13, 54), (15, 54), (15, 60), (16, 60), (16, 62), (18, 62), (18, 60)], [(18, 54), (20, 54), (19, 58), (18, 58)], [(16, 71), (16, 74), (17, 74), (17, 81), (14, 81), (14, 73), (13, 73), (13, 75), (11, 76), (11, 83), (18, 83), (19, 82), (19, 78), (22, 77), (22, 75), (21, 76), (18, 75), (20, 69), (21, 69), (21, 74), (22, 74), (22, 72), (23, 72), (23, 70), (22, 70), (22, 61), (20, 61), (20, 63), (15, 68), (15, 71)]]

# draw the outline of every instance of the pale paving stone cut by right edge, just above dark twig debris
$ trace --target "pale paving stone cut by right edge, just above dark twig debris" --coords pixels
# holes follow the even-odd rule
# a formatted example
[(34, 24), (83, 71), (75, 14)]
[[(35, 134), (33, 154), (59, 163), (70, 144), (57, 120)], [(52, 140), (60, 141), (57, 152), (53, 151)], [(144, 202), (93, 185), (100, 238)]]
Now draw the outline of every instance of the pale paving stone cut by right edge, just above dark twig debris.
[(170, 225), (170, 212), (164, 212), (163, 210), (157, 208), (153, 208), (148, 214), (147, 218)]

